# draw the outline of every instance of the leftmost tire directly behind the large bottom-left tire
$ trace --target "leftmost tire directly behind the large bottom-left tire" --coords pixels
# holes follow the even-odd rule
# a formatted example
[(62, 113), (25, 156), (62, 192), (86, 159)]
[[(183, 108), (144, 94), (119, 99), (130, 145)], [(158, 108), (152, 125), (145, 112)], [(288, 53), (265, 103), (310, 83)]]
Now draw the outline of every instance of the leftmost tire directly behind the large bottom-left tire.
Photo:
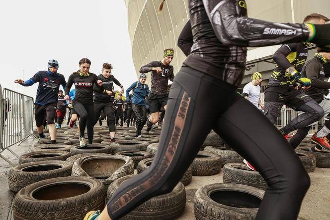
[(18, 192), (22, 188), (46, 179), (71, 175), (72, 165), (67, 161), (50, 160), (18, 165), (9, 170), (9, 190)]

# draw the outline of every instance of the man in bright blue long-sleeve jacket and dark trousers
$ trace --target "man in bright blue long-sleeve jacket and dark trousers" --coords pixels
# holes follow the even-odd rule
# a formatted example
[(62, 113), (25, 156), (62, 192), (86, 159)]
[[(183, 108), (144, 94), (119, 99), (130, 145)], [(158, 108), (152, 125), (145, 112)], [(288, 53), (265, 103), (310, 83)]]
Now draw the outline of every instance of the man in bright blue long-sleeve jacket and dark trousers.
[(146, 83), (146, 74), (140, 75), (140, 81), (134, 82), (126, 90), (126, 102), (130, 101), (129, 92), (133, 90), (132, 108), (136, 118), (136, 136), (141, 137), (141, 130), (146, 123), (146, 98), (149, 95), (149, 87)]

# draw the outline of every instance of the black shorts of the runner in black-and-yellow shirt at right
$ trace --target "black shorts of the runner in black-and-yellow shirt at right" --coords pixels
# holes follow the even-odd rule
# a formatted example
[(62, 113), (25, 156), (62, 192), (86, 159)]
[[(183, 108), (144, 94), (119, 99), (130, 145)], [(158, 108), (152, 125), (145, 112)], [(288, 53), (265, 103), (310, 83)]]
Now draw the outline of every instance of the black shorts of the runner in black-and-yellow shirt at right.
[(274, 116), (279, 116), (283, 105), (296, 110), (310, 101), (314, 100), (293, 86), (268, 86), (265, 89), (264, 114), (270, 111)]

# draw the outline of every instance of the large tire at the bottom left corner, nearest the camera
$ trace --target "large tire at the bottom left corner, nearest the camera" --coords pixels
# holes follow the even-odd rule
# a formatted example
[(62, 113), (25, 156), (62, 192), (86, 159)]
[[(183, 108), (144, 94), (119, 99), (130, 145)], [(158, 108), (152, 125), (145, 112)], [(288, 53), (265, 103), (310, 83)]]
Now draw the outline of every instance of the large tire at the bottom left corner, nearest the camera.
[(13, 217), (14, 220), (54, 220), (55, 217), (82, 220), (91, 210), (104, 208), (105, 195), (102, 183), (93, 178), (43, 180), (17, 193)]

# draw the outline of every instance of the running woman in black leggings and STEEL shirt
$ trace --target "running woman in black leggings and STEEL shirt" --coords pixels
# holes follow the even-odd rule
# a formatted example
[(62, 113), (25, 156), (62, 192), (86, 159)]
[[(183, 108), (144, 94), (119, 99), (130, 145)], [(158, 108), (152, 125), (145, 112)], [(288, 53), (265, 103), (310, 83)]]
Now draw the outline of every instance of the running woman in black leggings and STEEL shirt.
[[(83, 58), (79, 61), (80, 70), (70, 75), (68, 84), (65, 88), (66, 94), (69, 94), (73, 84), (76, 87), (76, 96), (72, 101), (74, 110), (80, 115), (80, 146), (87, 146), (84, 132), (87, 125), (88, 143), (93, 141), (94, 126), (94, 105), (93, 105), (93, 86), (96, 84), (100, 91), (111, 95), (111, 91), (105, 90), (102, 81), (97, 79), (93, 73), (89, 73), (90, 60)], [(69, 100), (69, 96), (65, 96)]]

